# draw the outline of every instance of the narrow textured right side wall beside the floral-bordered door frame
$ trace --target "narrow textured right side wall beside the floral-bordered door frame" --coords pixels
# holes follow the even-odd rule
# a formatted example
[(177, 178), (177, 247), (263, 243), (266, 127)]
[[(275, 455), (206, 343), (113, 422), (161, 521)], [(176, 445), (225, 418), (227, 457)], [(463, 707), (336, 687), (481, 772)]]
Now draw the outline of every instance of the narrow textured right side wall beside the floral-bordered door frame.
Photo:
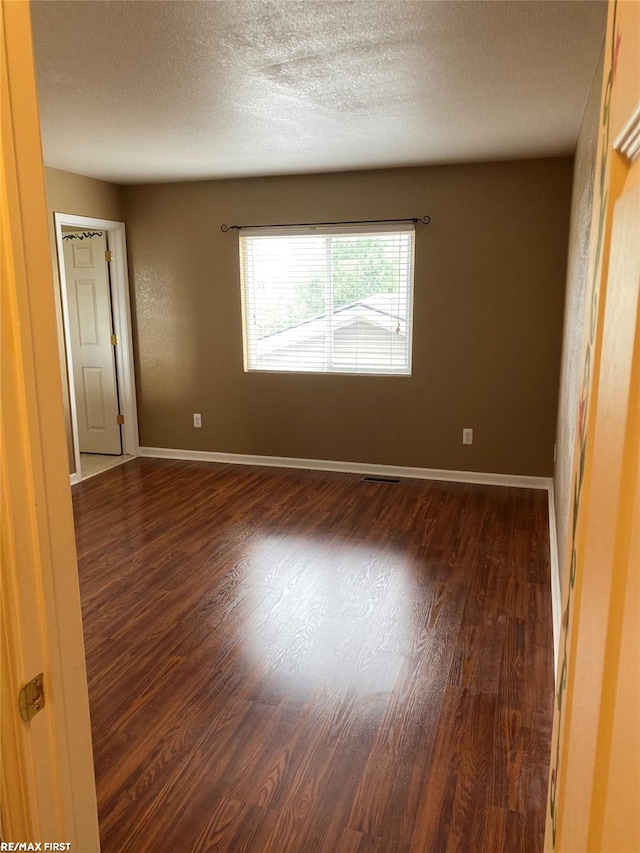
[[(600, 94), (604, 49), (593, 78), (589, 100), (582, 119), (573, 167), (573, 197), (569, 229), (569, 263), (565, 297), (564, 333), (558, 401), (557, 454), (554, 493), (558, 542), (568, 537), (571, 506), (571, 472), (578, 419), (578, 395), (582, 372), (584, 310), (589, 274), (589, 240), (595, 180), (598, 130), (600, 127)], [(559, 554), (560, 580), (564, 583), (564, 553)]]

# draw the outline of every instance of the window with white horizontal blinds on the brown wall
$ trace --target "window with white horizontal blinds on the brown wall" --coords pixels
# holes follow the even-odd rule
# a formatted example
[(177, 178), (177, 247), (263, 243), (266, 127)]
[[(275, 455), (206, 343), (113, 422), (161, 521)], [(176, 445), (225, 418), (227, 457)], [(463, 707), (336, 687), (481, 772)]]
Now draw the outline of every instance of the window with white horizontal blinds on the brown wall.
[(411, 373), (414, 227), (240, 232), (245, 370)]

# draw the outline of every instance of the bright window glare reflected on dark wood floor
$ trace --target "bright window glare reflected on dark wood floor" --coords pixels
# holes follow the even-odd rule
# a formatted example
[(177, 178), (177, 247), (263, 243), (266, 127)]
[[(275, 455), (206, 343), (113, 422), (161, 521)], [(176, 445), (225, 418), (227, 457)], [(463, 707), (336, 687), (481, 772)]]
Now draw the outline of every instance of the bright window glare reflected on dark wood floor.
[(415, 633), (401, 557), (291, 535), (264, 536), (246, 557), (243, 647), (264, 680), (297, 693), (391, 692)]

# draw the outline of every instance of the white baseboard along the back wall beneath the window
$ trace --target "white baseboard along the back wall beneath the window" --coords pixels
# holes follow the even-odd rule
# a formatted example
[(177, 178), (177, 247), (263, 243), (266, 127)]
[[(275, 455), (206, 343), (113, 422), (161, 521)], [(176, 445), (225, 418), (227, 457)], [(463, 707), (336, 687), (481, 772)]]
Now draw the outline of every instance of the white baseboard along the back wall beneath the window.
[(446, 480), (451, 483), (478, 483), (487, 486), (511, 486), (518, 489), (545, 489), (547, 491), (551, 483), (550, 477), (484, 474), (477, 471), (448, 471), (442, 468), (407, 468), (402, 465), (335, 462), (328, 459), (295, 459), (288, 456), (252, 456), (243, 453), (216, 453), (208, 450), (175, 450), (167, 447), (141, 447), (140, 456), (155, 459), (182, 459), (187, 462), (265, 465), (271, 468), (302, 468), (309, 471), (337, 471), (346, 474), (409, 477), (416, 480)]

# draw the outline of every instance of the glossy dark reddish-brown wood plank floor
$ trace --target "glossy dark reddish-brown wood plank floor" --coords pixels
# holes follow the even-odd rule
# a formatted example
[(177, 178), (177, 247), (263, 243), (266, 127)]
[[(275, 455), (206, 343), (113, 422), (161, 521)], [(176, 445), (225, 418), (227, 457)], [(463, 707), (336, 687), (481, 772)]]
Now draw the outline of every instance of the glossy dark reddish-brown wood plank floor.
[(73, 497), (103, 853), (542, 850), (545, 492), (137, 459)]

